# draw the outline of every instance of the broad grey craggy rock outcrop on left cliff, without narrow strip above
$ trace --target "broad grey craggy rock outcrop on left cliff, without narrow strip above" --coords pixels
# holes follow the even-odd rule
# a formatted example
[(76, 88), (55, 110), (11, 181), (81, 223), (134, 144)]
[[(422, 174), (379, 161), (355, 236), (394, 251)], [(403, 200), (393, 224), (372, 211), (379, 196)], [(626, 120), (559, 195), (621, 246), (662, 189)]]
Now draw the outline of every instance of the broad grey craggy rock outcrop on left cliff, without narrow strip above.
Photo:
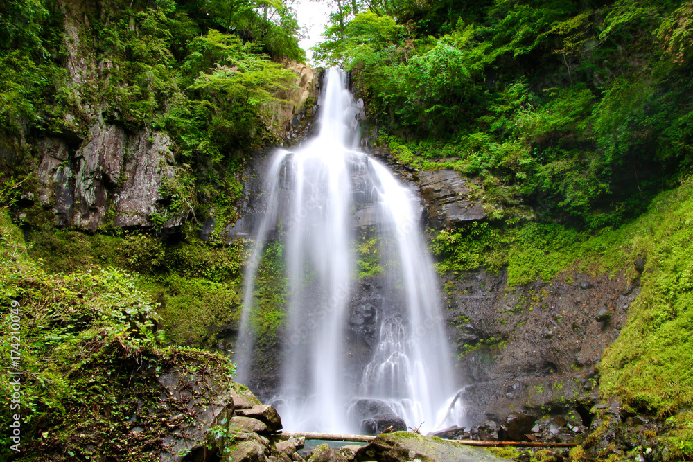
[(168, 135), (96, 124), (72, 153), (60, 139), (40, 145), (38, 199), (53, 207), (56, 225), (94, 231), (110, 213), (115, 226), (152, 226), (162, 181), (175, 174)]

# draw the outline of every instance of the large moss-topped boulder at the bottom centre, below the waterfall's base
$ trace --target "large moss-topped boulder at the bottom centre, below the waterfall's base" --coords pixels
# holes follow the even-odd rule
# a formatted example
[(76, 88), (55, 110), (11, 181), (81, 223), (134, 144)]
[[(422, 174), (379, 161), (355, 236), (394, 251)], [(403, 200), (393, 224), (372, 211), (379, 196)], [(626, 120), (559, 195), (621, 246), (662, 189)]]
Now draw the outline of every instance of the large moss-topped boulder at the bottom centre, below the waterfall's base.
[(409, 432), (378, 435), (373, 443), (356, 452), (357, 461), (399, 462), (502, 462), (486, 450)]

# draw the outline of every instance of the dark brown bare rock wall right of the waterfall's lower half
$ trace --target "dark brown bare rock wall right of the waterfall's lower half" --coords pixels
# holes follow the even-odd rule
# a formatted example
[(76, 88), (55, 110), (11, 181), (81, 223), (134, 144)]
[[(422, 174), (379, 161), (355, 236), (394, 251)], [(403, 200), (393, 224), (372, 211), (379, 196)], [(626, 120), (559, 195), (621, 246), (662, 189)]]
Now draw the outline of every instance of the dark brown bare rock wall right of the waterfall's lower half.
[(571, 428), (589, 427), (599, 395), (595, 366), (624, 325), (638, 281), (574, 274), (507, 290), (503, 273), (444, 279), (468, 423), (502, 423), (514, 412), (561, 414)]

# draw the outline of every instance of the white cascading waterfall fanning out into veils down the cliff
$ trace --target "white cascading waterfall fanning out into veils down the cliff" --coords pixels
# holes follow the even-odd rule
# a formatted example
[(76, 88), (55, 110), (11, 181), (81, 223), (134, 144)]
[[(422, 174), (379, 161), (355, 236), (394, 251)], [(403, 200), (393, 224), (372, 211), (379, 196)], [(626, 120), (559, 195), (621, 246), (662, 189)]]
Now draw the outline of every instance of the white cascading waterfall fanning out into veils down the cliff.
[[(273, 230), (286, 246), (288, 328), (283, 339), (281, 393), (273, 404), (286, 429), (358, 432), (349, 407), (362, 398), (382, 402), (409, 426), (459, 423), (453, 373), (432, 262), (419, 231), (412, 193), (356, 145), (358, 109), (346, 77), (330, 69), (321, 94), (319, 134), (301, 148), (278, 150), (269, 164), (267, 211), (246, 272), (239, 380), (249, 374), (253, 348), (254, 277)], [(354, 188), (355, 178), (362, 186)], [(358, 193), (358, 194), (357, 194)], [(358, 196), (358, 200), (356, 199)], [(355, 215), (383, 242), (385, 300), (376, 313), (379, 341), (362, 377), (347, 367), (345, 322), (355, 284)], [(366, 215), (361, 214), (360, 217)], [(454, 409), (448, 409), (453, 402)], [(440, 415), (438, 415), (440, 414)]]

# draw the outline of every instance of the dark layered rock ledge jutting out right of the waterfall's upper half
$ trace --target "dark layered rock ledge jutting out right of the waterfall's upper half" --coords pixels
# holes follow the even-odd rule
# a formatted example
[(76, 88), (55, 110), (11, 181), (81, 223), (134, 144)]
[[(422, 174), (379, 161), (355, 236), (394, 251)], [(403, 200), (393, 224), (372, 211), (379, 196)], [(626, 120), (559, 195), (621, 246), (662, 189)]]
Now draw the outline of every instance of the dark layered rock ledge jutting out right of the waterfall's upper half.
[(455, 170), (419, 172), (419, 188), (428, 206), (428, 222), (435, 229), (486, 217), (482, 204), (471, 197), (468, 180)]

